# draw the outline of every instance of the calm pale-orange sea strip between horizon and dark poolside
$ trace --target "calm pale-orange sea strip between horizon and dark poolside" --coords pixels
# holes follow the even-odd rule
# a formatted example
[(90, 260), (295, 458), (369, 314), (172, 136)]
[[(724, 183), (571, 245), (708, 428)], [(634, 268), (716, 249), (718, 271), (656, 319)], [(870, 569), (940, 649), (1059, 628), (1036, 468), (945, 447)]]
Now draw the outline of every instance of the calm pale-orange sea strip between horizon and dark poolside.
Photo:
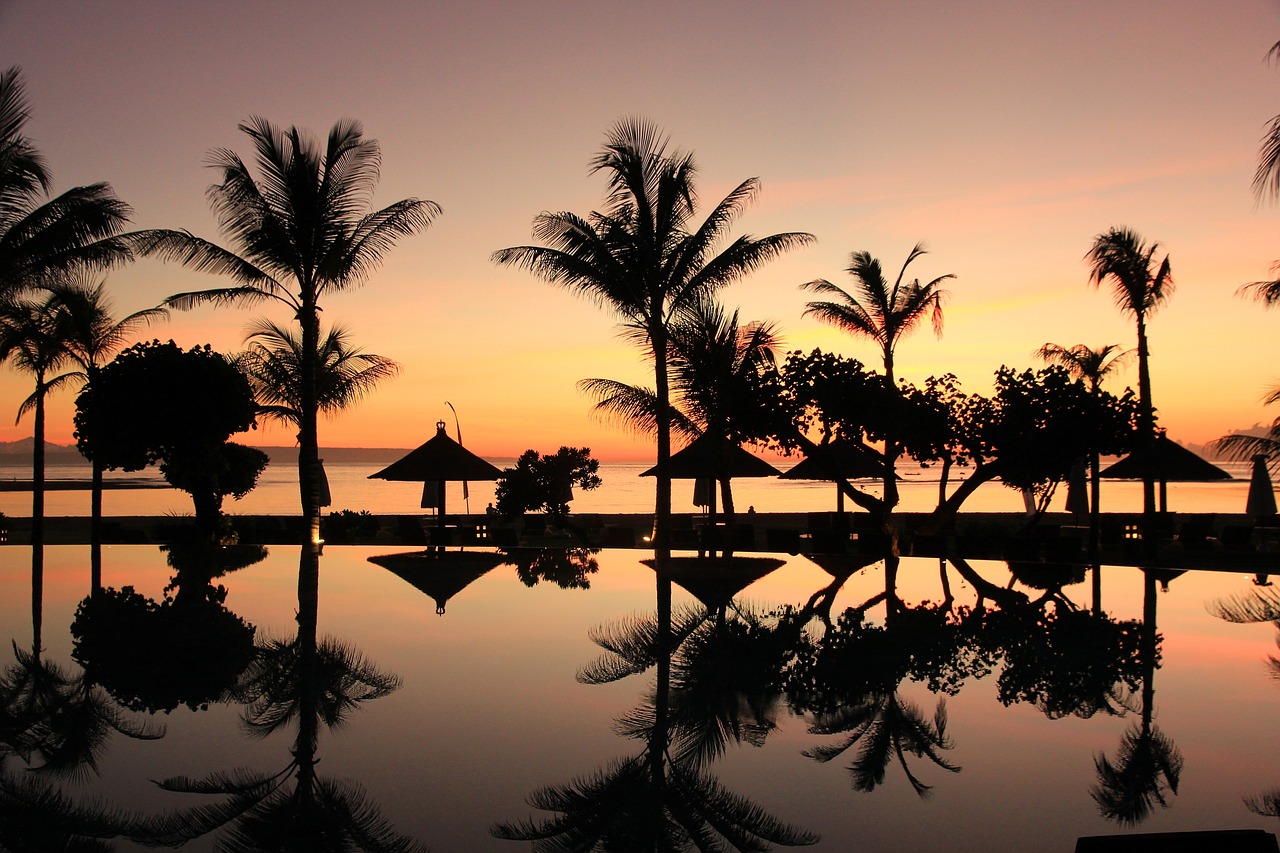
[[(325, 470), (337, 510), (367, 510), (378, 515), (419, 512), (422, 487), (417, 483), (392, 483), (371, 480), (369, 475), (396, 460), (365, 462), (326, 462)], [(509, 464), (495, 460), (499, 467)], [(786, 467), (783, 462), (780, 467)], [(1169, 508), (1175, 512), (1243, 512), (1248, 493), (1249, 466), (1222, 464), (1236, 479), (1219, 483), (1170, 483)], [(573, 512), (650, 512), (653, 511), (654, 480), (640, 476), (649, 467), (644, 462), (613, 462), (600, 465), (603, 484), (591, 492), (575, 492)], [(905, 512), (927, 512), (937, 505), (938, 478), (936, 469), (902, 466), (900, 508)], [(88, 473), (82, 466), (52, 465), (49, 480), (84, 479)], [(109, 474), (110, 476), (110, 474)], [(156, 471), (120, 474), (131, 479), (147, 479), (164, 484)], [(29, 466), (0, 466), (0, 479), (31, 479)], [(954, 480), (955, 478), (952, 478)], [(955, 488), (954, 483), (950, 487)], [(463, 494), (462, 483), (449, 483), (445, 503), (449, 512), (483, 512), (493, 501), (493, 483), (468, 483)], [(870, 487), (869, 491), (878, 493)], [(950, 489), (948, 489), (950, 491)], [(694, 484), (677, 480), (673, 505), (676, 511), (695, 511)], [(836, 506), (836, 489), (831, 483), (783, 480), (778, 478), (733, 480), (733, 500), (739, 511), (755, 507), (759, 512), (817, 512)], [(1066, 489), (1059, 489), (1052, 510), (1065, 508)], [(1111, 480), (1102, 484), (1102, 508), (1111, 512), (1138, 512), (1142, 510), (1139, 483)], [(109, 516), (127, 515), (189, 515), (191, 500), (182, 492), (163, 489), (122, 489), (104, 494), (104, 512)], [(259, 480), (253, 492), (241, 501), (228, 500), (224, 508), (236, 515), (289, 515), (298, 511), (297, 470), (287, 461), (276, 460)], [(852, 508), (849, 505), (849, 508)], [(968, 512), (1019, 512), (1021, 494), (1000, 483), (983, 484), (964, 505)], [(9, 516), (31, 515), (29, 492), (0, 492), (0, 512)], [(88, 515), (87, 491), (56, 491), (45, 496), (45, 512), (50, 516)]]

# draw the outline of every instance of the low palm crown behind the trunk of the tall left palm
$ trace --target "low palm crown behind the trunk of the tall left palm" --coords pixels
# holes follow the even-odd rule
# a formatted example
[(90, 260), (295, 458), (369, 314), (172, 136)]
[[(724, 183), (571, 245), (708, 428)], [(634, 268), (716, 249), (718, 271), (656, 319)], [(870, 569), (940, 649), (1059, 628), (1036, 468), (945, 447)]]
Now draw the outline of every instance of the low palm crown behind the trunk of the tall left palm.
[[(316, 353), (316, 402), (320, 412), (335, 415), (399, 373), (384, 356), (351, 346), (351, 333), (335, 325), (320, 338)], [(293, 426), (302, 424), (302, 341), (292, 329), (259, 320), (246, 337), (248, 350), (236, 365), (248, 377), (259, 414)]]

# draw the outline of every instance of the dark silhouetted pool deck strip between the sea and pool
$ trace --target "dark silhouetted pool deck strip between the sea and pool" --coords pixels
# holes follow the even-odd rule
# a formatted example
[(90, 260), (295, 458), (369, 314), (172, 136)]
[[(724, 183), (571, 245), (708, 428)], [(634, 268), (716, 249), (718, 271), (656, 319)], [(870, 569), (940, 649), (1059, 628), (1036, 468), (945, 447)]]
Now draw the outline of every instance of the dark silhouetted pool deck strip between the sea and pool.
[[(759, 512), (737, 516), (736, 552), (819, 553), (878, 557), (887, 538), (867, 526), (865, 514), (847, 516), (841, 526), (831, 512)], [(964, 557), (1016, 562), (1085, 562), (1087, 523), (1068, 514), (1046, 514), (1028, 529), (1020, 514), (964, 514), (954, 530), (924, 533), (927, 514), (900, 514), (899, 553), (915, 557)], [(584, 542), (600, 548), (646, 549), (652, 514), (570, 516), (579, 535), (547, 529), (541, 516), (503, 523), (479, 516), (449, 516), (448, 544), (472, 547), (571, 547)], [(9, 517), (5, 542), (29, 544), (31, 519)], [(346, 521), (346, 524), (344, 524)], [(232, 516), (242, 543), (296, 544), (301, 539), (297, 516)], [(1217, 569), (1280, 574), (1280, 529), (1256, 528), (1243, 514), (1178, 514), (1164, 520), (1156, 558), (1143, 547), (1137, 525), (1139, 514), (1102, 515), (1105, 565), (1165, 569)], [(191, 524), (184, 516), (105, 517), (104, 544), (163, 544)], [(435, 520), (421, 515), (362, 516), (358, 520), (326, 516), (326, 546), (426, 546), (435, 535)], [(721, 528), (719, 538), (724, 532)], [(705, 519), (680, 514), (673, 519), (673, 548), (699, 551), (707, 538)], [(712, 539), (718, 543), (718, 539)], [(90, 543), (90, 519), (45, 519), (45, 544)]]

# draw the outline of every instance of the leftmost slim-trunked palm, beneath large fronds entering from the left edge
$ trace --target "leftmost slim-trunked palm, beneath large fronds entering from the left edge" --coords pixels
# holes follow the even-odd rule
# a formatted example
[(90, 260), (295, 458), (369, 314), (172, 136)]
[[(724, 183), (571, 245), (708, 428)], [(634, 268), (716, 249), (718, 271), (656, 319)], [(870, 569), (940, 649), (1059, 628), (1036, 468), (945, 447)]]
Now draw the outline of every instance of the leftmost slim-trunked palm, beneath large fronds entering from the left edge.
[(45, 535), (45, 397), (74, 382), (77, 375), (56, 371), (70, 353), (61, 336), (58, 296), (42, 300), (15, 298), (0, 301), (0, 361), (36, 379), (36, 389), (18, 407), (18, 421), (35, 412), (35, 447), (31, 466), (31, 543), (40, 546)]

